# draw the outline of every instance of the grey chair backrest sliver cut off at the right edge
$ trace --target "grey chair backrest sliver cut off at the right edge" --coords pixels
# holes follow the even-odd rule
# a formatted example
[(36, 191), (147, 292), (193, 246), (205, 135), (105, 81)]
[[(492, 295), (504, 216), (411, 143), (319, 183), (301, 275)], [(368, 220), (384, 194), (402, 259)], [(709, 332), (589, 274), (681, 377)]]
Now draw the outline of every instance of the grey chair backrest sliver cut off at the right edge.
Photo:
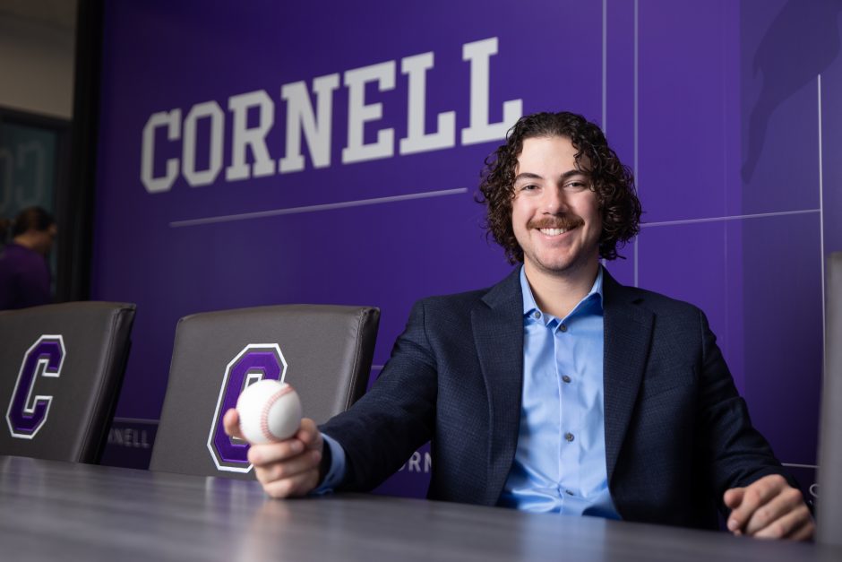
[(821, 391), (818, 540), (842, 546), (842, 252), (828, 258)]

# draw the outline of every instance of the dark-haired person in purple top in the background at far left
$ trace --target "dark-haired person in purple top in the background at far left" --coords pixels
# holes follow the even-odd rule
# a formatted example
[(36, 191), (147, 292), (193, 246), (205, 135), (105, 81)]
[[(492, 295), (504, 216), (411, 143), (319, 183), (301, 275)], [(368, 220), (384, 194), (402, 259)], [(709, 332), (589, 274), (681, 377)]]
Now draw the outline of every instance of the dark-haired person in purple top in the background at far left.
[(56, 220), (41, 207), (18, 213), (12, 243), (0, 254), (0, 310), (50, 302), (47, 254), (56, 238)]

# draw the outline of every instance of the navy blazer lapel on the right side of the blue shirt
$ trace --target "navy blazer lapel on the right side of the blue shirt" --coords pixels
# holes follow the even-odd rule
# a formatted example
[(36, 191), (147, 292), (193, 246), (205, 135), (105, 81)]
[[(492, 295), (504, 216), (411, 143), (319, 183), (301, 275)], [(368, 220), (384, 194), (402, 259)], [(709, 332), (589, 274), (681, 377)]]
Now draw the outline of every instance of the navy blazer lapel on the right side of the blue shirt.
[(606, 469), (610, 483), (646, 368), (653, 315), (640, 306), (639, 293), (614, 281), (607, 271), (603, 292)]

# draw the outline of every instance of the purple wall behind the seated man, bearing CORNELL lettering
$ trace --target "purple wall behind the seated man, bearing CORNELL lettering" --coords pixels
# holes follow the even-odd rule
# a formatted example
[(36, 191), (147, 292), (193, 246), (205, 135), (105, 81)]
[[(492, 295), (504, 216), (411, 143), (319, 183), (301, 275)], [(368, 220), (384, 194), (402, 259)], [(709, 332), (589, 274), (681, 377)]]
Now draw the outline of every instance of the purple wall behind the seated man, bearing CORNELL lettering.
[[(832, 158), (842, 147), (842, 112), (830, 102), (842, 86), (842, 4), (796, 4), (436, 0), (335, 3), (328, 17), (319, 3), (107, 3), (93, 296), (138, 304), (107, 462), (148, 458), (148, 445), (128, 450), (138, 440), (126, 439), (125, 428), (134, 424), (140, 435), (145, 424), (142, 435), (154, 437), (181, 316), (296, 302), (375, 305), (374, 364), (382, 366), (417, 298), (503, 277), (509, 266), (485, 241), (473, 202), (482, 161), (502, 134), (463, 138), (487, 96), (492, 124), (503, 120), (505, 102), (520, 100), (512, 104), (518, 115), (567, 109), (605, 126), (637, 174), (646, 222), (625, 248), (628, 259), (609, 268), (620, 281), (704, 308), (756, 425), (783, 462), (814, 465), (821, 255), (842, 249), (842, 169)], [(463, 59), (466, 45), (481, 51), (492, 38), (496, 54)], [(452, 141), (407, 153), (400, 139), (417, 136), (409, 83), (421, 73), (402, 65), (417, 67), (411, 57), (425, 53), (434, 57), (424, 73), (425, 133), (438, 130), (436, 116), (455, 112), (444, 117), (453, 120)], [(483, 62), (490, 72), (472, 101), (471, 75)], [(382, 116), (374, 110), (357, 144), (375, 143), (382, 129), (393, 140), (385, 156), (343, 162), (355, 144), (349, 119), (365, 113), (352, 108), (357, 87), (348, 85), (360, 73), (348, 71), (364, 67), (383, 71), (385, 86), (358, 89), (365, 104), (382, 104)], [(328, 78), (314, 82), (320, 77)], [(331, 92), (322, 96), (331, 120), (317, 132), (331, 138), (314, 154), (317, 143), (296, 136), (305, 168), (286, 171), (279, 160), (298, 121), (288, 118), (295, 103), (282, 98), (300, 81), (314, 108), (319, 87)], [(238, 152), (229, 103), (254, 91), (270, 105), (262, 116), (249, 110), (241, 128), (268, 127), (268, 156), (247, 151), (258, 164), (253, 177), (228, 179), (238, 173), (228, 172)], [(194, 135), (188, 118), (209, 101), (221, 127), (215, 177), (212, 118), (196, 119)], [(176, 140), (166, 125), (153, 126), (167, 116)], [(191, 160), (185, 139), (193, 137)], [(357, 152), (365, 150), (374, 149)], [(169, 159), (180, 166), (171, 182)], [(383, 490), (417, 493), (424, 451), (417, 461)], [(808, 468), (799, 477), (809, 485), (814, 475)]]

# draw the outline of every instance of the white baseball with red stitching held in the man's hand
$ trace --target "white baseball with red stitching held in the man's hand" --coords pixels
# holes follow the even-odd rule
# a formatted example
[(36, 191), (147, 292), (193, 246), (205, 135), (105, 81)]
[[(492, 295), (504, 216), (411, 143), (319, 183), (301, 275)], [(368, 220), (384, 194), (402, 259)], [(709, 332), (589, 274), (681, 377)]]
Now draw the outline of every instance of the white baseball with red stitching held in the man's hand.
[(236, 400), (240, 431), (254, 445), (283, 441), (301, 425), (301, 400), (295, 389), (264, 378), (249, 385)]

